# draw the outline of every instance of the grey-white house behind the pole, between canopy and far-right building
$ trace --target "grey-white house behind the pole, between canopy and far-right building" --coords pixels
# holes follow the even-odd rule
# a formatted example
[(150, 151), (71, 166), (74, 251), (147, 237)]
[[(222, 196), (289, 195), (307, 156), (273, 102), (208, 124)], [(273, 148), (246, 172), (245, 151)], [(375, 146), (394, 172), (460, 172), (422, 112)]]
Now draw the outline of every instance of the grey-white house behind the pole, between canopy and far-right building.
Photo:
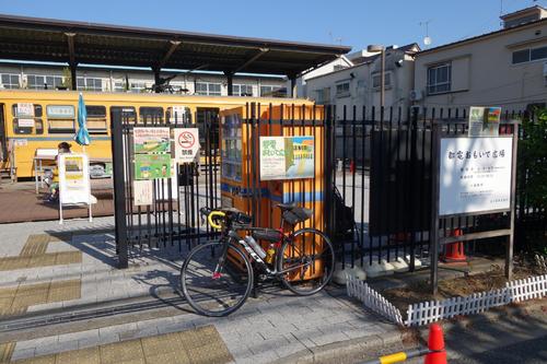
[[(414, 87), (414, 56), (419, 51), (414, 43), (404, 47), (391, 46), (385, 49), (385, 107), (406, 108), (410, 105)], [(336, 105), (337, 117), (352, 117), (352, 108), (362, 118), (362, 108), (371, 116), (371, 107), (380, 114), (381, 101), (381, 57), (377, 54), (359, 51), (348, 55), (353, 66), (321, 74), (306, 80), (306, 97), (318, 104)]]

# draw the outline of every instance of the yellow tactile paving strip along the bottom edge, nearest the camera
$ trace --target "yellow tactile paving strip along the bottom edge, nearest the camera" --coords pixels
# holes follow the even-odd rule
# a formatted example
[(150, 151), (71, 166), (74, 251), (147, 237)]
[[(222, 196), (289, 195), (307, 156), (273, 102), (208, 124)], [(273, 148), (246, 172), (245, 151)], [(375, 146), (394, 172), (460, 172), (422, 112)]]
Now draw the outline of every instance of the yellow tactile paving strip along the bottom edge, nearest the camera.
[(233, 357), (219, 332), (213, 326), (206, 326), (183, 332), (115, 342), (96, 348), (73, 350), (9, 363), (224, 364), (229, 362), (233, 362)]

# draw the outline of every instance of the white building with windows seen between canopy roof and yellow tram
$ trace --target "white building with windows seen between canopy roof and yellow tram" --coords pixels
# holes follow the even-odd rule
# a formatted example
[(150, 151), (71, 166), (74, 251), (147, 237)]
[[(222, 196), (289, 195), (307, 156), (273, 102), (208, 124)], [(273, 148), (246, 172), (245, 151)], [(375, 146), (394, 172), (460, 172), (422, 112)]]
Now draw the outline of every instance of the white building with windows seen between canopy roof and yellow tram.
[[(224, 74), (212, 72), (163, 71), (162, 78), (176, 77), (170, 82), (175, 91), (187, 95), (228, 95)], [(70, 72), (62, 66), (23, 62), (0, 63), (0, 87), (55, 90), (68, 86)], [(151, 92), (154, 74), (147, 70), (79, 67), (78, 90), (96, 92)], [(281, 96), (287, 95), (286, 79), (270, 75), (238, 75), (233, 79), (233, 95)]]

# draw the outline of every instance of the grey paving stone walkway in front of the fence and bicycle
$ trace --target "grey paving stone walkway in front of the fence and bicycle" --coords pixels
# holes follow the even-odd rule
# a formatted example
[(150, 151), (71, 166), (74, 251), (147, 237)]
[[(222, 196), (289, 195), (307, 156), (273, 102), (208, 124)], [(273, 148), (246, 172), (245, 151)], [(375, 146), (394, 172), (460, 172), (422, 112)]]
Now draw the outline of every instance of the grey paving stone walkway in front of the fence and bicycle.
[[(15, 266), (2, 271), (0, 295), (4, 292), (2, 296), (12, 300), (10, 307), (18, 292), (32, 292), (25, 297), (36, 300), (21, 300), (25, 304), (24, 310), (10, 308), (3, 312), (0, 324), (24, 313), (47, 313), (59, 307), (150, 296), (162, 289), (173, 290), (178, 285), (184, 251), (176, 246), (162, 253), (136, 250), (131, 254), (130, 268), (119, 270), (116, 268), (112, 228), (113, 220), (108, 218), (96, 219), (92, 225), (86, 221), (67, 221), (65, 225), (57, 222), (1, 225), (0, 259), (67, 251), (81, 254), (81, 259), (56, 260), (53, 265), (32, 267)], [(51, 295), (48, 290), (62, 282), (71, 282), (70, 293), (60, 294), (57, 290), (57, 295)], [(71, 357), (80, 357), (82, 361), (78, 363), (108, 363), (106, 357), (109, 356), (103, 355), (106, 350), (119, 348), (123, 353), (126, 351), (124, 348), (133, 347), (133, 350), (128, 350), (139, 352), (140, 356), (128, 356), (127, 363), (156, 363), (160, 357), (153, 357), (151, 352), (148, 355), (146, 343), (159, 342), (161, 347), (163, 340), (172, 342), (170, 340), (174, 338), (183, 340), (181, 338), (193, 337), (196, 332), (209, 332), (210, 336), (216, 334), (218, 340), (208, 343), (210, 337), (196, 339), (199, 350), (197, 344), (181, 344), (181, 350), (185, 352), (164, 352), (162, 363), (185, 363), (181, 357), (187, 357), (188, 363), (201, 363), (200, 357), (221, 353), (219, 348), (225, 347), (226, 351), (216, 356), (219, 363), (257, 364), (335, 342), (383, 337), (393, 330), (396, 330), (394, 326), (347, 298), (341, 287), (329, 287), (313, 296), (299, 297), (277, 286), (266, 285), (258, 298), (249, 298), (240, 310), (225, 318), (198, 316), (186, 305), (181, 305), (174, 307), (173, 314), (167, 317), (143, 315), (124, 324), (113, 319), (98, 326), (90, 321), (78, 331), (58, 334), (48, 334), (47, 327), (38, 336), (34, 332), (32, 338), (18, 340), (2, 340), (0, 333), (0, 363), (71, 363)], [(188, 348), (197, 351), (188, 351)], [(118, 361), (123, 362), (121, 359)]]

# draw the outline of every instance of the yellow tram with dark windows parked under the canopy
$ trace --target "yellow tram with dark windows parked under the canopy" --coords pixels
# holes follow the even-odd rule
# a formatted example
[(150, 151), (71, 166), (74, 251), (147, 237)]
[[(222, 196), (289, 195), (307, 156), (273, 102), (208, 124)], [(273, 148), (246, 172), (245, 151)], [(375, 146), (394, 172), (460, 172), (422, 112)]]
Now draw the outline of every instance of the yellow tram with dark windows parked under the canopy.
[[(62, 142), (71, 142), (72, 151), (82, 148), (73, 137), (78, 130), (78, 95), (73, 91), (0, 91), (0, 169), (10, 169), (16, 178), (35, 177), (37, 151), (56, 150)], [(88, 111), (88, 129), (92, 143), (85, 148), (95, 176), (108, 175), (110, 150), (110, 108), (121, 107), (124, 114), (137, 124), (194, 122), (205, 128), (206, 115), (218, 116), (220, 111), (244, 106), (246, 103), (280, 105), (296, 103), (295, 99), (241, 97), (241, 96), (182, 96), (170, 94), (91, 93), (83, 92)], [(19, 105), (32, 104), (32, 115), (18, 115)], [(313, 105), (310, 101), (298, 104)], [(32, 110), (31, 110), (32, 111)], [(182, 114), (182, 115), (179, 115)], [(211, 149), (219, 149), (219, 122), (214, 117)], [(203, 132), (200, 134), (205, 136)], [(217, 136), (217, 137), (214, 137)], [(201, 145), (205, 145), (201, 142)]]

